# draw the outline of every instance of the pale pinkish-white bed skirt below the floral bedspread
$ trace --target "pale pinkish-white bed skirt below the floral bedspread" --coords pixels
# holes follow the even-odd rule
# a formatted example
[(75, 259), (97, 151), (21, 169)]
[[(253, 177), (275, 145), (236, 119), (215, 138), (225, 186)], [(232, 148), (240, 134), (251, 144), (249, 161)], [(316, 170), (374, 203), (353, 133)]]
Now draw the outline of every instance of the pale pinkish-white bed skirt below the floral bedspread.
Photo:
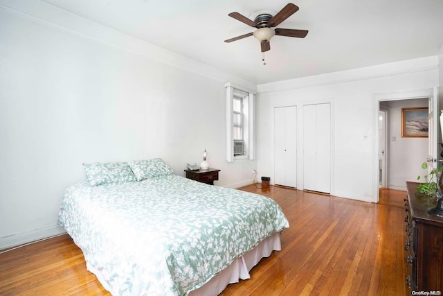
[[(257, 263), (264, 257), (271, 256), (273, 251), (282, 250), (280, 243), (280, 232), (275, 232), (269, 238), (265, 238), (261, 243), (254, 247), (251, 251), (243, 256), (237, 258), (226, 269), (221, 270), (212, 279), (210, 279), (204, 286), (192, 290), (188, 295), (190, 296), (208, 296), (219, 295), (228, 284), (238, 283), (239, 279), (249, 279), (249, 271), (257, 265)], [(87, 262), (87, 269), (98, 278), (103, 288), (110, 291), (110, 287), (106, 281), (102, 280), (102, 275), (99, 270), (89, 265)]]

